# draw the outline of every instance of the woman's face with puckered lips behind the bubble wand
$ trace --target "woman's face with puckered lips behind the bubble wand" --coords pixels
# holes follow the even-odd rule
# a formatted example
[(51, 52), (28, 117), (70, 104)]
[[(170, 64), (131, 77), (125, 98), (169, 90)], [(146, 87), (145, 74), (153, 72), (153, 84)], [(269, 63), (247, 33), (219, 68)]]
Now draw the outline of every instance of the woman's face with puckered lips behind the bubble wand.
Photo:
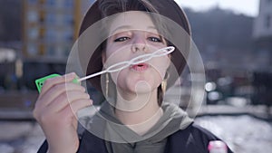
[[(103, 54), (105, 68), (167, 46), (151, 17), (143, 12), (119, 14), (112, 22), (109, 33), (111, 36)], [(157, 90), (169, 65), (169, 55), (164, 55), (148, 62), (131, 64), (120, 72), (111, 73), (111, 76), (122, 94), (145, 93)]]

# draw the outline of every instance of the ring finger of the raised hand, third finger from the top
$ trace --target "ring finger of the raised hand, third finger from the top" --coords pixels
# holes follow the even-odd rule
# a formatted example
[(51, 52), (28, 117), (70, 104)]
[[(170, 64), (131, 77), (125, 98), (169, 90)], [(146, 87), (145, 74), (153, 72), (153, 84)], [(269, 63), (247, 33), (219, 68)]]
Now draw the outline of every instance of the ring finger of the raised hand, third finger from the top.
[(58, 112), (75, 100), (90, 100), (90, 96), (83, 91), (65, 91), (49, 103), (47, 108)]

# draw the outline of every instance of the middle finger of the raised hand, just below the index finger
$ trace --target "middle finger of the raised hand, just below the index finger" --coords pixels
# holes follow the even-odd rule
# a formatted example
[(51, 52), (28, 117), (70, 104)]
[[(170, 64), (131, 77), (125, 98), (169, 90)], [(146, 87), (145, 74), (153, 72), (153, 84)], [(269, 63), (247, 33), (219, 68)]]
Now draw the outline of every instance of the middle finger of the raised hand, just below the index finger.
[(40, 96), (39, 102), (41, 102), (41, 106), (46, 107), (51, 102), (53, 102), (53, 100), (55, 100), (58, 96), (68, 91), (85, 92), (85, 89), (83, 88), (83, 86), (75, 84), (73, 82), (57, 84), (54, 85), (49, 91), (44, 93), (44, 95)]

